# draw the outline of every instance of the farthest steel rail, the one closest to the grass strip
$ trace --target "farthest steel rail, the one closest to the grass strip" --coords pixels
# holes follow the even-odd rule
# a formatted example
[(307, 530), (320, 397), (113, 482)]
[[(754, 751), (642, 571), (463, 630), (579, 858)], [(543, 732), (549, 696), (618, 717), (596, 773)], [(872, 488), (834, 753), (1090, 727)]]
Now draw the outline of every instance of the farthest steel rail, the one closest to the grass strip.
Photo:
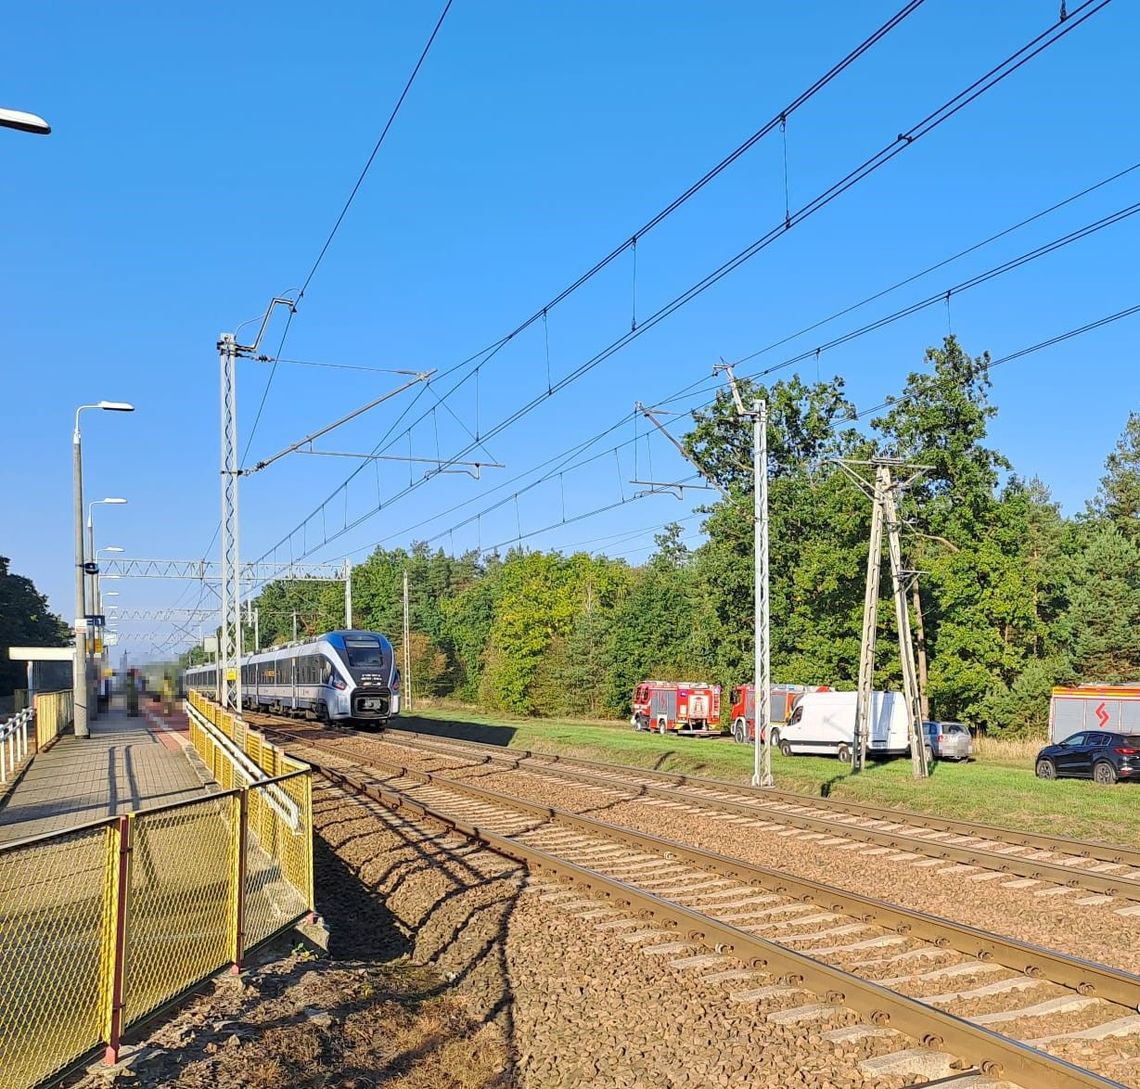
[[(445, 739), (432, 733), (405, 730), (402, 726), (392, 726), (391, 729), (399, 733), (410, 734), (416, 739), (417, 743), (439, 751), (447, 751), (448, 746), (453, 747), (453, 751), (455, 748), (471, 748), (477, 751), (499, 748), (483, 741)], [(393, 743), (400, 743), (392, 738), (388, 740), (393, 741)], [(511, 753), (512, 756), (506, 756), (494, 755), (494, 753), (488, 751), (487, 756), (489, 759), (502, 761), (504, 763), (514, 763), (513, 757), (516, 756), (519, 759), (549, 761), (553, 764), (569, 764), (586, 769), (596, 769), (601, 772), (637, 775), (646, 779), (656, 779), (659, 782), (674, 783), (675, 786), (726, 790), (738, 794), (741, 797), (777, 799), (789, 805), (803, 805), (808, 808), (824, 810), (829, 813), (847, 813), (850, 816), (861, 816), (866, 820), (883, 821), (891, 824), (915, 824), (934, 831), (951, 832), (955, 836), (974, 836), (978, 839), (1008, 843), (1011, 846), (1032, 847), (1037, 851), (1053, 851), (1058, 854), (1068, 854), (1074, 858), (1097, 859), (1101, 862), (1115, 862), (1121, 865), (1140, 869), (1140, 848), (1130, 847), (1125, 844), (1050, 836), (1043, 832), (1007, 828), (1001, 824), (984, 824), (975, 821), (955, 820), (948, 816), (939, 816), (936, 813), (919, 813), (914, 810), (891, 810), (885, 806), (869, 805), (865, 802), (847, 802), (841, 798), (820, 798), (813, 795), (799, 794), (795, 790), (780, 790), (775, 787), (751, 787), (746, 783), (728, 782), (724, 779), (686, 775), (684, 772), (659, 771), (658, 769), (636, 767), (629, 764), (614, 764), (608, 761), (588, 759), (583, 756), (563, 756), (559, 753), (543, 753), (535, 749), (512, 749)]]

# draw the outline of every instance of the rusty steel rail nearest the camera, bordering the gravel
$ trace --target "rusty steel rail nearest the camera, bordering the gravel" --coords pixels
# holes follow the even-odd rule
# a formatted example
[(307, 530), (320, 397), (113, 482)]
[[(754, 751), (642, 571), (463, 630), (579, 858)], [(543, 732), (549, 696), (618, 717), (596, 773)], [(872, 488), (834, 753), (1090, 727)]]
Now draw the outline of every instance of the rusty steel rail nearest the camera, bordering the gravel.
[[(340, 769), (314, 763), (314, 770), (343, 789), (363, 794), (390, 808), (408, 811), (420, 819), (435, 821), (506, 858), (514, 859), (531, 871), (548, 872), (601, 893), (611, 903), (659, 920), (669, 928), (684, 933), (694, 943), (716, 948), (719, 952), (739, 957), (754, 968), (777, 975), (780, 982), (785, 985), (804, 988), (826, 1002), (854, 1010), (874, 1025), (894, 1029), (919, 1040), (925, 1047), (951, 1053), (972, 1064), (986, 1076), (1008, 1079), (1027, 1089), (1119, 1089), (1118, 1082), (1029, 1045), (955, 1017), (880, 984), (862, 980), (840, 968), (813, 960), (805, 953), (663, 900), (617, 878), (559, 859), (547, 851), (520, 843), (511, 836), (438, 812), (402, 791), (381, 783), (361, 782)], [(414, 777), (421, 774), (430, 773), (415, 773)], [(465, 783), (457, 785), (450, 780), (447, 781), (447, 787), (462, 788), (461, 793), (479, 789), (470, 788)], [(490, 791), (480, 793), (490, 794)], [(504, 802), (508, 807), (524, 808), (535, 813), (557, 812), (534, 803), (520, 803), (514, 798), (506, 798)]]

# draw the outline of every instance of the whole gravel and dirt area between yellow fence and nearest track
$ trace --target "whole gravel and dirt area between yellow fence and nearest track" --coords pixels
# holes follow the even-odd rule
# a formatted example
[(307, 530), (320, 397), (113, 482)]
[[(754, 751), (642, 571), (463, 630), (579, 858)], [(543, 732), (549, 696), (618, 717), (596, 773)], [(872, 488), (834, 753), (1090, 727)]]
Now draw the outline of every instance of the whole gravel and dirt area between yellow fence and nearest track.
[[(861, 1072), (864, 1059), (901, 1042), (824, 1041), (824, 1031), (857, 1019), (849, 1010), (774, 1024), (769, 1014), (811, 995), (773, 986), (728, 957), (692, 958), (700, 950), (684, 942), (654, 956), (661, 932), (552, 893), (455, 834), (319, 785), (314, 815), (327, 953), (267, 950), (239, 981), (220, 977), (153, 1024), (127, 1068), (73, 1079), (71, 1089), (899, 1089), (913, 1081)], [(709, 960), (716, 972), (706, 975)], [(759, 990), (739, 1001), (734, 986)]]

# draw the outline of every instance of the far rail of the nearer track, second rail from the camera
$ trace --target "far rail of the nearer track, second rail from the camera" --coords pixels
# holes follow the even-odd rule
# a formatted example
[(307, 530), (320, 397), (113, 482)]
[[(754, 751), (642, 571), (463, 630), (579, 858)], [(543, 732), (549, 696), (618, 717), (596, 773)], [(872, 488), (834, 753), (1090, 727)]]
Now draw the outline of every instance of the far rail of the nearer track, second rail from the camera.
[(976, 957), (980, 961), (999, 964), (1013, 972), (1024, 973), (1034, 980), (1048, 980), (1082, 995), (1101, 998), (1130, 1007), (1134, 1011), (1140, 1010), (1140, 976), (1119, 968), (1070, 957), (1018, 938), (991, 934), (962, 923), (955, 923), (952, 919), (915, 911), (860, 893), (847, 892), (809, 878), (796, 877), (781, 870), (773, 870), (714, 851), (706, 851), (702, 847), (694, 847), (691, 844), (666, 839), (608, 821), (598, 821), (538, 802), (488, 790), (486, 787), (478, 787), (473, 783), (459, 782), (437, 772), (402, 767), (389, 761), (344, 753), (333, 745), (309, 741), (295, 734), (293, 737), (318, 751), (328, 753), (357, 765), (386, 769), (396, 778), (414, 779), (424, 786), (454, 790), (489, 805), (515, 810), (543, 821), (581, 829), (592, 835), (601, 835), (640, 850), (674, 855), (722, 877), (731, 877), (756, 887), (768, 888), (772, 892), (792, 896), (829, 911), (841, 912), (863, 923), (873, 923), (895, 934), (917, 937), (939, 948), (953, 949), (966, 956)]

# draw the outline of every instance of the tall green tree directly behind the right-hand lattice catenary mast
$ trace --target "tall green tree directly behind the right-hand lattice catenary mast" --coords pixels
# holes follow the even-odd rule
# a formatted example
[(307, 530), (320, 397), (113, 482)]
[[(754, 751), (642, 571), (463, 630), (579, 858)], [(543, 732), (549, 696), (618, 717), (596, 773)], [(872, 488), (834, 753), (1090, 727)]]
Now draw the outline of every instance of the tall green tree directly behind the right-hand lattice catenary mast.
[[(869, 505), (826, 468), (860, 452), (842, 381), (771, 389), (741, 383), (746, 401), (768, 401), (772, 667), (780, 680), (849, 680), (858, 664)], [(727, 393), (694, 414), (690, 454), (728, 489), (708, 509), (708, 542), (694, 560), (702, 657), (727, 684), (754, 673), (755, 551), (752, 429)]]

